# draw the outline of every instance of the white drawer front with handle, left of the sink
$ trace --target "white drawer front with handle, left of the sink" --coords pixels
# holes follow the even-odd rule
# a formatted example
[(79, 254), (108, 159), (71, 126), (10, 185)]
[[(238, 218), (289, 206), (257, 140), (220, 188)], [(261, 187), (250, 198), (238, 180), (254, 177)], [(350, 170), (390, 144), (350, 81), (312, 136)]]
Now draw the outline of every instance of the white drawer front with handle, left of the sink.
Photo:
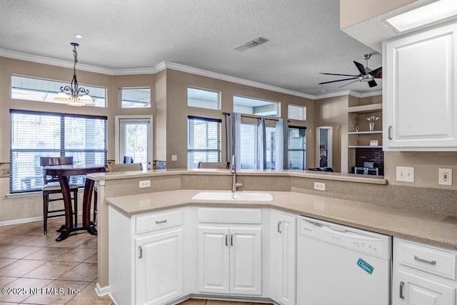
[(183, 210), (166, 211), (136, 217), (136, 234), (179, 226), (183, 223)]

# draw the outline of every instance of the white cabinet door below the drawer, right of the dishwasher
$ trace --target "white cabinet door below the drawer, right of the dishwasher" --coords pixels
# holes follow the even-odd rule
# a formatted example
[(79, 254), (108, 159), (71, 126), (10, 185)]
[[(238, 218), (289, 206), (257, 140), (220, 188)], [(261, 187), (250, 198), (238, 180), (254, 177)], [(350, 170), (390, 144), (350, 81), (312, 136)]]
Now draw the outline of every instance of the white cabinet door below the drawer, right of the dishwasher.
[(393, 276), (393, 305), (455, 305), (455, 289), (405, 271)]

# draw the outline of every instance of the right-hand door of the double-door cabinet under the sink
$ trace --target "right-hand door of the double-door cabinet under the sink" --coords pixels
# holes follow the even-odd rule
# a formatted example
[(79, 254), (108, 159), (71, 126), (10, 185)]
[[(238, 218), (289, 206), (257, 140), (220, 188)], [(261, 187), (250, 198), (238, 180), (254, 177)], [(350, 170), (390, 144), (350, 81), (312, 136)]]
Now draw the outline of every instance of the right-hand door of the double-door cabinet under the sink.
[(260, 228), (230, 229), (230, 292), (262, 294), (262, 236)]

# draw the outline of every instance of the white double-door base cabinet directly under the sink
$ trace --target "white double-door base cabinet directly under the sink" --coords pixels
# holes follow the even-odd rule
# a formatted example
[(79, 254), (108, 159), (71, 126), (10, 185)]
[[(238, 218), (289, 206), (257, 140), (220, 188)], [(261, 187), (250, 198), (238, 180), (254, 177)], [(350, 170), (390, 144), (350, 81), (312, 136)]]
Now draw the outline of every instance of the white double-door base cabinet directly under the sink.
[[(250, 224), (237, 220), (252, 213), (258, 225), (256, 216)], [(199, 208), (199, 292), (261, 295), (260, 216), (260, 209)]]

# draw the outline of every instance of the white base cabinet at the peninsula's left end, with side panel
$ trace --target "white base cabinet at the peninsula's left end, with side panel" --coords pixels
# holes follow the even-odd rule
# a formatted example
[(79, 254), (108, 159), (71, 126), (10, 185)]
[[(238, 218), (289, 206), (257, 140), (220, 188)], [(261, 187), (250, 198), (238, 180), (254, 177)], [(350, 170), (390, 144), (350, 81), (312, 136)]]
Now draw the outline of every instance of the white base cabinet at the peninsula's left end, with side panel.
[(116, 304), (167, 304), (183, 295), (184, 211), (126, 216), (109, 206), (109, 289)]

